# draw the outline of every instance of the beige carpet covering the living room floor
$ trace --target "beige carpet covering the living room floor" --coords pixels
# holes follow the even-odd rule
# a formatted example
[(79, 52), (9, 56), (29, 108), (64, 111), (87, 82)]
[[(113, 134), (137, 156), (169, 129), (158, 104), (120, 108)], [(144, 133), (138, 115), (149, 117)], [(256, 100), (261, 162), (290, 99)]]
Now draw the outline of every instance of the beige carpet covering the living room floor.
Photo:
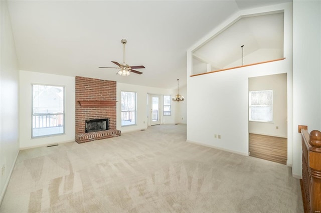
[(19, 153), (0, 211), (303, 212), (279, 163), (186, 142), (186, 125)]

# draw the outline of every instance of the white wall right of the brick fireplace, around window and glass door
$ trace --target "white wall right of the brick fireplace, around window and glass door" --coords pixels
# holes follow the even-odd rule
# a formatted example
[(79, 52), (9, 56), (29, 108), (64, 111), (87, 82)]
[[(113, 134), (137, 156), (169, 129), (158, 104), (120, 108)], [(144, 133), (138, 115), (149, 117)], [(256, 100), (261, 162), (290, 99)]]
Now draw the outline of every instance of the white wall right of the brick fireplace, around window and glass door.
[[(121, 91), (136, 92), (137, 111), (136, 111), (135, 125), (121, 126)], [(118, 130), (121, 130), (121, 132), (128, 132), (128, 131), (137, 131), (141, 129), (146, 129), (148, 127), (148, 112), (149, 112), (149, 106), (147, 101), (148, 94), (173, 95), (173, 90), (117, 82), (117, 129)], [(163, 97), (161, 97), (161, 100), (162, 99)], [(172, 110), (171, 116), (161, 115), (162, 124), (174, 124), (174, 122), (175, 122), (175, 110), (174, 111)]]

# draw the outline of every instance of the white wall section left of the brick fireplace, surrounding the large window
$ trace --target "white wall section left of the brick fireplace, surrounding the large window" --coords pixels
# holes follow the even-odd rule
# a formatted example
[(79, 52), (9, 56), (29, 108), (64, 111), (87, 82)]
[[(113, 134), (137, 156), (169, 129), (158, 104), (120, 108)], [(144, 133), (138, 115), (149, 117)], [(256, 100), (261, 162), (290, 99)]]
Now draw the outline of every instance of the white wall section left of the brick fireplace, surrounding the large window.
[[(65, 134), (31, 138), (32, 83), (65, 86)], [(75, 140), (75, 77), (20, 70), (20, 148)]]

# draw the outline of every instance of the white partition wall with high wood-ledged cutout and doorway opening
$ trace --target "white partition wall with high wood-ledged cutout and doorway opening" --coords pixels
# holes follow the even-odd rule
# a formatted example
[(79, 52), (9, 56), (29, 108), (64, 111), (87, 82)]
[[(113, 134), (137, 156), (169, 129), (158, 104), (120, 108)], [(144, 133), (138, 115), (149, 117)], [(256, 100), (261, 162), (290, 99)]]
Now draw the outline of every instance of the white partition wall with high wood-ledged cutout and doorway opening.
[[(192, 51), (209, 40), (221, 29), (242, 15), (284, 10), (285, 60), (247, 66), (216, 73), (190, 77)], [(276, 73), (287, 73), (292, 78), (292, 3), (242, 10), (215, 28), (187, 52), (187, 140), (232, 152), (248, 154), (248, 78)], [(292, 85), (292, 83), (288, 83)], [(292, 107), (292, 88), (288, 88), (288, 107)], [(288, 110), (288, 129), (292, 116)], [(289, 127), (290, 126), (290, 127)], [(288, 134), (291, 133), (290, 131)], [(220, 134), (221, 139), (214, 134)], [(289, 138), (290, 137), (290, 138)], [(289, 143), (292, 137), (288, 135)], [(292, 159), (292, 148), (288, 155)], [(289, 162), (290, 164), (291, 162)]]

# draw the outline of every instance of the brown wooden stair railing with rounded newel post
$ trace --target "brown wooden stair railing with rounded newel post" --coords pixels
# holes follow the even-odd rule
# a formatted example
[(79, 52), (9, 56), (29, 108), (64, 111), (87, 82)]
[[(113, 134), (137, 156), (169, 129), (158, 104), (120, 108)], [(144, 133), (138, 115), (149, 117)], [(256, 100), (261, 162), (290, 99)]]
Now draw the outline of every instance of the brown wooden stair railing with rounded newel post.
[(302, 198), (305, 212), (321, 212), (321, 132), (302, 134)]

